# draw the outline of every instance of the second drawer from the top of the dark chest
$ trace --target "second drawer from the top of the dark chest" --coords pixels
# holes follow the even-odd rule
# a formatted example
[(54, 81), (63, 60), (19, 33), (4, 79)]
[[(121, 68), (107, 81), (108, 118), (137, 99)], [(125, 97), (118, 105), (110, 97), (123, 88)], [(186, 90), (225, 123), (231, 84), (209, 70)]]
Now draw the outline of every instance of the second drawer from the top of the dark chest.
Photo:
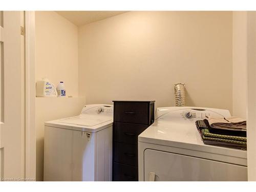
[(148, 125), (132, 123), (115, 123), (114, 140), (117, 142), (138, 144), (138, 135), (141, 134)]

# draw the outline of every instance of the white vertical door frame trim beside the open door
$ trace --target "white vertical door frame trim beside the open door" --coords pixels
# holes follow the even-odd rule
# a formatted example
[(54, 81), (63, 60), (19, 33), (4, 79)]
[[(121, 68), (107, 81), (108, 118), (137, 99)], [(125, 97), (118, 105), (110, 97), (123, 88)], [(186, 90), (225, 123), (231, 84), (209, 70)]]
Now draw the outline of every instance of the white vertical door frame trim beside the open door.
[(25, 178), (36, 178), (35, 12), (25, 11)]

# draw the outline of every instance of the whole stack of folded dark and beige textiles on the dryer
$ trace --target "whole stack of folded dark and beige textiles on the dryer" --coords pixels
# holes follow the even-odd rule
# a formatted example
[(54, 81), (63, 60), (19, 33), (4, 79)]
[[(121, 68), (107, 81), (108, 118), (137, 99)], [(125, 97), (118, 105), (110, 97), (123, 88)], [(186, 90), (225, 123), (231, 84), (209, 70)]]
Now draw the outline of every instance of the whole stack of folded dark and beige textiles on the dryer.
[(205, 144), (246, 149), (246, 120), (238, 117), (196, 121)]

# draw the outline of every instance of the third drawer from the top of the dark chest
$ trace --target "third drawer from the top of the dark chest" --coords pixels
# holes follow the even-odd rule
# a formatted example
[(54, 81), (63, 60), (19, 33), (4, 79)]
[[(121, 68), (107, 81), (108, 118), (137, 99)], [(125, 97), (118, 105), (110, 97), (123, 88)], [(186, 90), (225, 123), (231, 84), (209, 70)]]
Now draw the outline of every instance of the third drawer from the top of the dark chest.
[(114, 143), (114, 161), (138, 166), (138, 145)]

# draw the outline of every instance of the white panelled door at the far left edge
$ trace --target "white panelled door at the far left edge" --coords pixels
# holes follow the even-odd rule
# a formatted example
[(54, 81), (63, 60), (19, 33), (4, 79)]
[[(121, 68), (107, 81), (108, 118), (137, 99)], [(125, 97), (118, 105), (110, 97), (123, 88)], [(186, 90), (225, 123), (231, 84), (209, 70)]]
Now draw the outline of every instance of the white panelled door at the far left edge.
[(25, 178), (24, 12), (0, 11), (1, 180)]

